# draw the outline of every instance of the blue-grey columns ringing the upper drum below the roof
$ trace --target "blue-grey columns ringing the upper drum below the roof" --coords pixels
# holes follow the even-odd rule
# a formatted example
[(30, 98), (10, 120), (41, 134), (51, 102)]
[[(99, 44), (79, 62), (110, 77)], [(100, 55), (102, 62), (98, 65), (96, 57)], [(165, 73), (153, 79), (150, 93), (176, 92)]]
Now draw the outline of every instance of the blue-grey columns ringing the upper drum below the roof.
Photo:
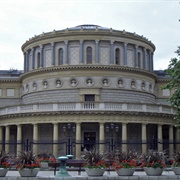
[[(99, 39), (95, 40), (95, 63), (99, 64)], [(110, 64), (115, 64), (115, 41), (110, 40)], [(56, 48), (56, 43), (51, 42), (51, 65), (55, 66), (56, 65), (56, 59), (55, 59), (55, 48)], [(63, 57), (63, 64), (67, 65), (68, 62), (68, 45), (69, 45), (69, 41), (65, 40), (64, 41), (64, 46), (63, 46), (63, 53), (64, 53), (64, 57)], [(30, 70), (30, 66), (29, 66), (29, 55), (31, 53), (32, 56), (32, 69), (35, 69), (35, 63), (36, 63), (36, 57), (35, 57), (35, 50), (38, 48), (38, 52), (40, 53), (40, 68), (44, 67), (44, 58), (43, 58), (43, 49), (44, 49), (45, 45), (39, 45), (39, 47), (33, 47), (29, 50), (27, 50), (26, 52), (24, 52), (24, 72), (28, 72)], [(128, 44), (123, 42), (123, 54), (124, 54), (124, 59), (123, 59), (123, 66), (127, 66), (128, 65), (128, 61), (127, 61), (127, 47)], [(138, 45), (134, 45), (135, 48), (135, 67), (138, 67)], [(80, 48), (80, 54), (79, 54), (79, 64), (86, 64), (85, 60), (84, 60), (84, 40), (79, 40), (79, 48)], [(143, 69), (147, 69), (151, 72), (153, 72), (153, 52), (151, 52), (150, 50), (142, 47), (143, 49), (143, 57), (142, 57), (142, 62), (143, 62)], [(147, 56), (149, 56), (148, 58), (148, 62), (147, 62)]]

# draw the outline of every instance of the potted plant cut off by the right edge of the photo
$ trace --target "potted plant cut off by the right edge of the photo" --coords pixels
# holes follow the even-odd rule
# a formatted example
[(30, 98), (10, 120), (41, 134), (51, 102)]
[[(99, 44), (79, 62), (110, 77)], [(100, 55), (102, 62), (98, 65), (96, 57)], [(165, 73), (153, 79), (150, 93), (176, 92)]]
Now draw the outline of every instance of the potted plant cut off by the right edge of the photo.
[(173, 160), (172, 160), (172, 170), (174, 171), (174, 174), (180, 175), (180, 151), (175, 152), (173, 154)]

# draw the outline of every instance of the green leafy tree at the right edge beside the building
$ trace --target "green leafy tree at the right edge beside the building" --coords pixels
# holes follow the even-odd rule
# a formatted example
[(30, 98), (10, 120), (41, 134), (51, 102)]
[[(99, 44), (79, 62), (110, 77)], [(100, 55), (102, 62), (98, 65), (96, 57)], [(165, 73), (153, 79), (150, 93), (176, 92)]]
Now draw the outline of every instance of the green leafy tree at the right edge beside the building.
[(176, 111), (175, 120), (176, 125), (180, 126), (180, 46), (177, 51), (177, 58), (172, 58), (168, 69), (165, 72), (170, 76), (169, 82), (163, 87), (163, 89), (173, 90), (173, 94), (169, 97), (169, 102)]

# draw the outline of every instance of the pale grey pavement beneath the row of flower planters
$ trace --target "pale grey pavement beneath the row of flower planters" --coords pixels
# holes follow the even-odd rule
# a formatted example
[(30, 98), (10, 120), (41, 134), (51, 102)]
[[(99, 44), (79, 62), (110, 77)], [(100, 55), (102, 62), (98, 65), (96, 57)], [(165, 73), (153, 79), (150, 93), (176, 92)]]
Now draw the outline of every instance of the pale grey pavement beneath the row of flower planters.
[[(58, 171), (57, 171), (58, 172)], [(20, 177), (18, 171), (8, 171), (6, 177), (0, 180), (177, 180), (180, 176), (173, 171), (164, 171), (161, 176), (147, 176), (144, 171), (136, 171), (133, 176), (118, 176), (115, 171), (105, 172), (102, 177), (88, 177), (85, 171), (78, 175), (77, 171), (68, 171), (70, 177), (55, 177), (54, 171), (39, 171), (37, 177)]]

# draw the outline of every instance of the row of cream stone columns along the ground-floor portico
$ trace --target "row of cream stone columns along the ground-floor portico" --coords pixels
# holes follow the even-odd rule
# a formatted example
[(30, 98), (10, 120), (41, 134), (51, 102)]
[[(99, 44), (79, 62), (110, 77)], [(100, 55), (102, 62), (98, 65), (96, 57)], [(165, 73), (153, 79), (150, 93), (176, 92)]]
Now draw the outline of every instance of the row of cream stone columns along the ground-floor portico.
[[(76, 122), (76, 145), (75, 145), (75, 153), (76, 153), (76, 158), (79, 159), (81, 157), (81, 143), (82, 143), (82, 127), (81, 127), (81, 122)], [(3, 127), (0, 126), (0, 142), (3, 142)], [(58, 123), (53, 123), (53, 142), (57, 142), (59, 137), (58, 137)], [(127, 151), (127, 144), (125, 142), (128, 141), (128, 136), (127, 136), (127, 123), (122, 123), (122, 149), (124, 151)], [(162, 125), (158, 124), (157, 125), (157, 138), (159, 141), (163, 140), (162, 137)], [(169, 142), (173, 142), (174, 136), (173, 136), (173, 126), (169, 125)], [(179, 130), (176, 128), (176, 140), (179, 140)], [(8, 142), (10, 141), (10, 125), (5, 126), (5, 150), (6, 152), (9, 152), (10, 150), (10, 144)], [(99, 149), (100, 151), (105, 151), (105, 123), (100, 122), (99, 123)], [(147, 152), (147, 124), (141, 124), (141, 140), (142, 140), (142, 153)], [(22, 141), (22, 124), (17, 125), (17, 151), (22, 150), (22, 144), (20, 143)], [(33, 141), (37, 142), (38, 141), (38, 124), (33, 124)], [(124, 143), (123, 143), (124, 142)], [(179, 147), (179, 145), (176, 146), (176, 149)], [(2, 149), (2, 144), (0, 144), (0, 149)], [(158, 143), (157, 149), (159, 151), (163, 150), (163, 145), (162, 143)], [(33, 151), (38, 152), (38, 144), (33, 145)], [(173, 143), (169, 144), (169, 154), (172, 155), (174, 152), (174, 145)], [(58, 155), (58, 144), (54, 143), (53, 144), (53, 154), (55, 156)]]

